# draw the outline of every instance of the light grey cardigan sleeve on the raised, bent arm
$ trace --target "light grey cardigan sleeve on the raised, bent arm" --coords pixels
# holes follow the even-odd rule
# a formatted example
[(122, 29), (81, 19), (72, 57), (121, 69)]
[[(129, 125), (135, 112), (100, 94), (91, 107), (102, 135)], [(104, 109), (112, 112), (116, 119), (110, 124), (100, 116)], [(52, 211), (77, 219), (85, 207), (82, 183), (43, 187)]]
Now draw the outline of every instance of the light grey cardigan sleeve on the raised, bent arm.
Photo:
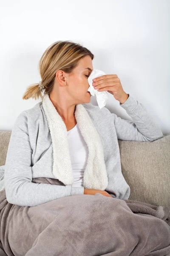
[(119, 105), (125, 109), (133, 121), (122, 119), (107, 108), (103, 108), (110, 113), (110, 118), (113, 119), (118, 140), (154, 141), (164, 137), (144, 105), (133, 99), (130, 94), (127, 100)]

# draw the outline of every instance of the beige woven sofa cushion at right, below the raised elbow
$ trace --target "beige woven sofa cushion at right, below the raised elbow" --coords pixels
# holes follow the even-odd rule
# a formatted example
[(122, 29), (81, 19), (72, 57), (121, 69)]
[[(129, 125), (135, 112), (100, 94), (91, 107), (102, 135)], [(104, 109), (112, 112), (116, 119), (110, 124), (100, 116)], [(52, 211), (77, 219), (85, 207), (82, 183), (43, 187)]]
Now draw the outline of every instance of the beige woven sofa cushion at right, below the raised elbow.
[(128, 199), (170, 206), (170, 134), (153, 142), (118, 142)]

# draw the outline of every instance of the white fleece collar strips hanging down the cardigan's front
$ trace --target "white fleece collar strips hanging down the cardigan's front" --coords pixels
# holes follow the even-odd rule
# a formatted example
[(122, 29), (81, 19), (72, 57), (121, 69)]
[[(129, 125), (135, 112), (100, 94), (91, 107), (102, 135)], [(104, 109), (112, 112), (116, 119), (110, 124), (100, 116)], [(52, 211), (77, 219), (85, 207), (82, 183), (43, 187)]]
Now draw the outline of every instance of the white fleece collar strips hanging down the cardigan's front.
[[(53, 174), (65, 185), (71, 185), (74, 178), (65, 122), (57, 112), (48, 94), (43, 97), (42, 106), (47, 117), (53, 146)], [(108, 186), (108, 176), (99, 134), (82, 104), (76, 105), (74, 114), (89, 151), (83, 186), (89, 189), (105, 190)]]

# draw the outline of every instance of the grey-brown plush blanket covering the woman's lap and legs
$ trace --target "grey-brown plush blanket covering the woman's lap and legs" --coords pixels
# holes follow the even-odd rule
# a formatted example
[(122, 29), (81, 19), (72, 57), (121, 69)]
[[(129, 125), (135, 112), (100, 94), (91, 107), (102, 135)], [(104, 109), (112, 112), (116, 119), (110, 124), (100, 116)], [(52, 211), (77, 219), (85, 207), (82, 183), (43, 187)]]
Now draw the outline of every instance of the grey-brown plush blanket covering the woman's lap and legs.
[[(55, 184), (55, 179), (34, 178)], [(96, 195), (34, 207), (0, 191), (0, 256), (170, 256), (170, 207)]]

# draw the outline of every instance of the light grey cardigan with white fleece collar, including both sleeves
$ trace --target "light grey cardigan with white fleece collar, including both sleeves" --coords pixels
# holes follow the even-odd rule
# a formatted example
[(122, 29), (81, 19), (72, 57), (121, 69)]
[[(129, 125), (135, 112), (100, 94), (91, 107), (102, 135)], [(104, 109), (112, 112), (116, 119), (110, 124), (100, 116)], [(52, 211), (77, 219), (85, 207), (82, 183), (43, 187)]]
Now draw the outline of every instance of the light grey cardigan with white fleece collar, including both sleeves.
[[(77, 104), (75, 117), (88, 145), (83, 187), (72, 187), (73, 173), (67, 129), (48, 95), (33, 108), (22, 111), (11, 132), (4, 185), (7, 201), (36, 206), (48, 201), (84, 194), (84, 188), (106, 190), (114, 198), (128, 199), (130, 187), (121, 171), (118, 140), (154, 141), (161, 129), (144, 105), (129, 95), (119, 105), (133, 121), (121, 119), (107, 108), (91, 103)], [(59, 185), (33, 183), (34, 177), (49, 177)]]

